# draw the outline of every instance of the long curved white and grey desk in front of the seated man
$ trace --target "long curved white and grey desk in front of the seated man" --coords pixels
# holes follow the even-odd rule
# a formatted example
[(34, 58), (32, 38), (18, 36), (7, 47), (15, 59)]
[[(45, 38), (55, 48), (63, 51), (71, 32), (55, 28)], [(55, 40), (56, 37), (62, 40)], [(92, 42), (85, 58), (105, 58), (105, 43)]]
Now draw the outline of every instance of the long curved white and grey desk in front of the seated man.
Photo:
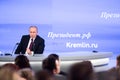
[[(28, 56), (30, 64), (33, 70), (37, 71), (41, 69), (42, 60), (45, 59), (51, 53), (36, 54), (34, 56)], [(61, 70), (67, 72), (69, 66), (76, 62), (89, 60), (95, 67), (95, 71), (102, 71), (107, 69), (109, 64), (109, 58), (113, 55), (112, 52), (63, 52), (56, 53), (61, 59)], [(0, 56), (0, 65), (5, 63), (14, 63), (14, 59), (17, 55)]]

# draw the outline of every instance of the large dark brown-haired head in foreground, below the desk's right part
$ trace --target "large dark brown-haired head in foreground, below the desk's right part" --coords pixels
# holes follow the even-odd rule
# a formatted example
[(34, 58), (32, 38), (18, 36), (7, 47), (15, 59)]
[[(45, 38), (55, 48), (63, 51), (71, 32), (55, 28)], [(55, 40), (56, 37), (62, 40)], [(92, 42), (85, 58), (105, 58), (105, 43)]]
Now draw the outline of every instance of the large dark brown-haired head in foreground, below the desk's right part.
[(73, 64), (69, 70), (69, 80), (93, 80), (93, 67), (90, 61)]

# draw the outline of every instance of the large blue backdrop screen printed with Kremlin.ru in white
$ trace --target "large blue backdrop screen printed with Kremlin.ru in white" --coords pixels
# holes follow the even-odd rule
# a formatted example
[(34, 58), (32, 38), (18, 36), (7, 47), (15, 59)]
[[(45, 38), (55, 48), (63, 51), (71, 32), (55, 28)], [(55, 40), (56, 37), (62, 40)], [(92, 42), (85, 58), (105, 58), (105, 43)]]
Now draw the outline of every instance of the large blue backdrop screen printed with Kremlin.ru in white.
[(1, 0), (0, 52), (14, 52), (31, 25), (45, 39), (44, 53), (120, 53), (119, 0)]

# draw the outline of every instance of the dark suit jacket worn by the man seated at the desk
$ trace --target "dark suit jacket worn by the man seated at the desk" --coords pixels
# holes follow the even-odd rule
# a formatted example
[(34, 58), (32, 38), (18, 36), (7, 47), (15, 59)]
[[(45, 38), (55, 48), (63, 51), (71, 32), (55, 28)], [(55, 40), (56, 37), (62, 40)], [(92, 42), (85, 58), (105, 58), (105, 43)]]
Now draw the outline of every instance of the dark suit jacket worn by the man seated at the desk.
[[(25, 54), (29, 39), (30, 39), (30, 35), (22, 36), (20, 44), (18, 45), (15, 51), (15, 54), (20, 54), (20, 53)], [(45, 47), (44, 39), (37, 35), (34, 40), (34, 50), (33, 50), (34, 54), (42, 54), (44, 51), (44, 47)]]

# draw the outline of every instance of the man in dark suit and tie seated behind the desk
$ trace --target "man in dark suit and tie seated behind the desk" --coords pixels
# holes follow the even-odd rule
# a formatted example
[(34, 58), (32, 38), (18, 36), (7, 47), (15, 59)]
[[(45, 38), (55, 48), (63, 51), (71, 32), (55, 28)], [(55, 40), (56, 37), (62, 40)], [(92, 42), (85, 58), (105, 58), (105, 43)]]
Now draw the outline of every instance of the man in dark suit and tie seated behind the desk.
[(34, 55), (42, 54), (45, 47), (45, 41), (41, 38), (36, 26), (30, 26), (29, 35), (23, 35), (15, 54)]

